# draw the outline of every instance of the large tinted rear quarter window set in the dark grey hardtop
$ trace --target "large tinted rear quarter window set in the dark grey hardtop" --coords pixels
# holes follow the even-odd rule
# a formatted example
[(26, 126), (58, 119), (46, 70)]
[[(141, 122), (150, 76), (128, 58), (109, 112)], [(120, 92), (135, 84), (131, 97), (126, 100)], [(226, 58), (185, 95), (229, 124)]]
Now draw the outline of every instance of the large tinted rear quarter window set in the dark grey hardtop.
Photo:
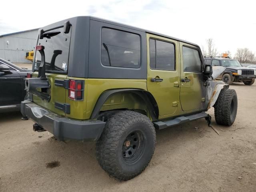
[(102, 28), (101, 62), (104, 66), (140, 68), (140, 36)]

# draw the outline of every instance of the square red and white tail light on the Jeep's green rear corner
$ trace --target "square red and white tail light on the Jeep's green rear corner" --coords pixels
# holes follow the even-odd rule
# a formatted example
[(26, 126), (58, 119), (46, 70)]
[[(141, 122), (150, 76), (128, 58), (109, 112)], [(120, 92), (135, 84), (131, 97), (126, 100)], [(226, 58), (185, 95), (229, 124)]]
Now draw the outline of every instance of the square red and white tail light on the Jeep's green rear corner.
[(83, 81), (69, 80), (68, 98), (72, 100), (83, 100)]

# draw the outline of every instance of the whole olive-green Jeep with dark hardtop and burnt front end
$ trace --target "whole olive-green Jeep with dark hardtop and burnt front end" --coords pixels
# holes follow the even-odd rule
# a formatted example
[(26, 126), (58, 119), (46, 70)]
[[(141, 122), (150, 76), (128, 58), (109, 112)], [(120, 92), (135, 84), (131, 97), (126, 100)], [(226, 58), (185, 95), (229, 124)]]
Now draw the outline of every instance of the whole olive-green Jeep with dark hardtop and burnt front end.
[[(34, 131), (58, 140), (94, 140), (100, 166), (118, 180), (150, 162), (156, 129), (210, 116), (236, 118), (235, 90), (214, 81), (200, 47), (178, 38), (91, 16), (38, 30), (33, 73), (21, 112)], [(220, 68), (222, 68), (220, 66)]]

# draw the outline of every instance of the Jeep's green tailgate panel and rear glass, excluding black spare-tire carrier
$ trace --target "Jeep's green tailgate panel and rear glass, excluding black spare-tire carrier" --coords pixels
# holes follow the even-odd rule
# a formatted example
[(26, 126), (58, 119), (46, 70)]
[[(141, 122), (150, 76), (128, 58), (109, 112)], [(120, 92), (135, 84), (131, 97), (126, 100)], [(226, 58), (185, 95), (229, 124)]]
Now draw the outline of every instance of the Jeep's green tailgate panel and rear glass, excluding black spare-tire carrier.
[[(50, 84), (50, 101), (33, 96), (33, 101), (52, 112), (59, 115), (65, 115), (66, 110), (66, 88), (64, 81), (67, 78), (68, 58), (70, 49), (72, 27), (68, 33), (64, 33), (63, 26), (57, 29), (49, 30), (42, 39), (38, 38), (37, 46), (44, 46), (46, 77)], [(46, 35), (47, 34), (47, 35)], [(35, 53), (34, 69), (38, 73), (38, 67), (41, 64), (41, 54), (37, 50)], [(34, 74), (33, 77), (37, 77)]]

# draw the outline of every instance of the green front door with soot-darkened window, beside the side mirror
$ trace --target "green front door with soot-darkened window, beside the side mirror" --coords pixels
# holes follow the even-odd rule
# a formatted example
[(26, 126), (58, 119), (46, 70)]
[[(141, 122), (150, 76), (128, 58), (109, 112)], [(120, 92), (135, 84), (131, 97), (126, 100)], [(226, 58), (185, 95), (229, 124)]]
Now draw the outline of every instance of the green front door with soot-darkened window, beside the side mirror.
[(183, 111), (201, 110), (205, 102), (203, 62), (196, 46), (180, 42), (180, 103)]

